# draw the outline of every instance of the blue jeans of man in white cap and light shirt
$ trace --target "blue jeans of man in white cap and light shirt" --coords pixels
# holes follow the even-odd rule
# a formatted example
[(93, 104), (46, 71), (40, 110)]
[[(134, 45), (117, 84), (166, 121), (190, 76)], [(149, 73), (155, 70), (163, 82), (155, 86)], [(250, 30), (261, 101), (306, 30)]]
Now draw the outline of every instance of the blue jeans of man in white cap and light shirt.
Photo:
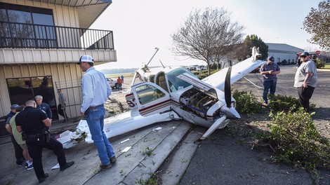
[(91, 131), (93, 142), (98, 149), (98, 157), (103, 165), (108, 165), (110, 158), (114, 156), (114, 149), (107, 139), (105, 132), (103, 132), (104, 118), (105, 108), (101, 105), (89, 109), (86, 121)]

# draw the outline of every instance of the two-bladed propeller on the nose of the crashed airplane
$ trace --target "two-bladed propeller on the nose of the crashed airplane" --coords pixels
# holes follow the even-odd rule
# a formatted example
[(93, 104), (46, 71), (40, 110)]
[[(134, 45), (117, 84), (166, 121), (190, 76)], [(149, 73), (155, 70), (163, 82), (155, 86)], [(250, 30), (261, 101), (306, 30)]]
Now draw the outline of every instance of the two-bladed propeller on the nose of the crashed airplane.
[[(227, 104), (227, 107), (223, 107), (222, 109), (228, 109), (228, 111), (230, 111), (232, 107), (232, 95), (231, 95), (231, 91), (230, 91), (230, 74), (232, 72), (232, 67), (229, 67), (227, 70), (227, 74), (225, 76), (225, 103)], [(206, 139), (206, 137), (208, 137), (209, 135), (211, 135), (211, 133), (214, 132), (214, 130), (220, 128), (220, 126), (225, 126), (224, 124), (227, 123), (226, 121), (227, 116), (224, 115), (221, 118), (218, 118), (218, 120), (216, 122), (214, 122), (211, 127), (206, 130), (206, 132), (204, 133), (204, 135), (202, 135), (202, 137), (200, 137), (197, 142), (202, 142), (204, 139)]]

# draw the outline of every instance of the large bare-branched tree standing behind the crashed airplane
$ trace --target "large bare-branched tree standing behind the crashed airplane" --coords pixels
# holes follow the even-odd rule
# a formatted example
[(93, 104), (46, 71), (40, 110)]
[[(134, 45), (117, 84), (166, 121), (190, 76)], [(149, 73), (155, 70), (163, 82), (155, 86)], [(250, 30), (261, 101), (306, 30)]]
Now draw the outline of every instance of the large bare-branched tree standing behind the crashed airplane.
[(242, 41), (243, 27), (230, 22), (230, 13), (223, 8), (194, 11), (178, 31), (171, 35), (173, 53), (204, 60), (210, 74), (210, 63), (219, 62), (227, 46)]

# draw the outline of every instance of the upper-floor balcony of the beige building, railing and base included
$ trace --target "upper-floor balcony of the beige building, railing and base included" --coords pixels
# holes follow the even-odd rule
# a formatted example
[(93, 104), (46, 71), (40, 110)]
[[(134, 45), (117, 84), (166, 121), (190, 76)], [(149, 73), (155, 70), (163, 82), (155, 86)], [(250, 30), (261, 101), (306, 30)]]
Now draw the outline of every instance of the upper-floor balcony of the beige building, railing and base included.
[(112, 31), (0, 21), (0, 64), (117, 61)]

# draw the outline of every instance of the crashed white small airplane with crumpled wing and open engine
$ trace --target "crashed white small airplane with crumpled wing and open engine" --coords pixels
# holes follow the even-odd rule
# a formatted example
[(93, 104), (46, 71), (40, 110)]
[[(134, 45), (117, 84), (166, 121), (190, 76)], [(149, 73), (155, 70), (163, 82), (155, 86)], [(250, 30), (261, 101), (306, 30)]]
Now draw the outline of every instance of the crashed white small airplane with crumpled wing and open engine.
[[(138, 69), (131, 93), (126, 95), (131, 110), (106, 118), (105, 135), (108, 138), (115, 137), (153, 123), (183, 119), (209, 128), (198, 140), (201, 142), (214, 130), (225, 128), (231, 119), (240, 118), (235, 110), (230, 85), (265, 63), (254, 60), (260, 54), (256, 47), (252, 50), (253, 55), (248, 59), (202, 80), (184, 67), (149, 69), (145, 65)], [(140, 82), (136, 83), (136, 80)], [(81, 121), (77, 130), (78, 133), (86, 133), (86, 142), (93, 142), (86, 121)], [(71, 134), (59, 140), (65, 148), (70, 148), (78, 143), (74, 140), (77, 137), (81, 136), (73, 134), (72, 137)]]

